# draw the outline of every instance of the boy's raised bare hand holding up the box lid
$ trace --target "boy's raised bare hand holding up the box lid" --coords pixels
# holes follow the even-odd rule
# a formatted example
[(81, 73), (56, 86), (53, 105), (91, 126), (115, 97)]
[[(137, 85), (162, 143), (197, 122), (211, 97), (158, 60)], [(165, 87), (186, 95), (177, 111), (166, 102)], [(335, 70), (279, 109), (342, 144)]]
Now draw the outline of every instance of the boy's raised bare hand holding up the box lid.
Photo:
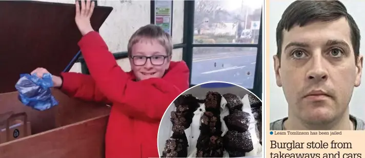
[[(81, 4), (81, 8), (79, 3)], [(87, 33), (94, 31), (91, 27), (90, 17), (92, 15), (92, 12), (94, 11), (95, 2), (90, 2), (90, 0), (87, 0), (85, 3), (85, 1), (82, 0), (82, 1), (76, 1), (75, 5), (76, 5), (75, 22), (78, 30), (84, 36)]]

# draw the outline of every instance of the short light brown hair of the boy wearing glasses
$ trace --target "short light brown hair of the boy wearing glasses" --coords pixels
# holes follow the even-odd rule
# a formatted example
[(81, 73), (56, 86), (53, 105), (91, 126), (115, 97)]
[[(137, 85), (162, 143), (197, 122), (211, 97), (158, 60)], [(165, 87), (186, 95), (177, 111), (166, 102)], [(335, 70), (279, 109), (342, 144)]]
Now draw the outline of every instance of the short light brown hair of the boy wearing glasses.
[(128, 42), (128, 57), (132, 56), (132, 46), (138, 43), (141, 38), (156, 39), (165, 47), (167, 55), (171, 57), (173, 47), (171, 36), (155, 24), (145, 25), (134, 32)]

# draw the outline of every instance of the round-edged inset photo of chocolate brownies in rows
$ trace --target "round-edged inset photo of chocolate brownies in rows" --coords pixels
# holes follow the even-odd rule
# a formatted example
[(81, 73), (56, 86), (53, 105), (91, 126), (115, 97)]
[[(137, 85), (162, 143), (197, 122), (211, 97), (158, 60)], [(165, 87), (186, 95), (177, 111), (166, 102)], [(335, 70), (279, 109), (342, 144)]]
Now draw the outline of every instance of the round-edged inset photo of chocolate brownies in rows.
[(160, 157), (261, 157), (262, 103), (225, 82), (196, 85), (179, 95), (160, 122)]

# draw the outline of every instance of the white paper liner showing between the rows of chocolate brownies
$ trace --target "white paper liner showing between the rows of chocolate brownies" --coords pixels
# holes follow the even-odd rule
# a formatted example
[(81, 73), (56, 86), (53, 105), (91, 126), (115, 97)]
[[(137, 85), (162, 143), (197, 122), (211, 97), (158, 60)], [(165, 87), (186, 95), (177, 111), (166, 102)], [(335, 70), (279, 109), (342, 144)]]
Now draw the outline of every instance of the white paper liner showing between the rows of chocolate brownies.
[[(237, 96), (238, 98), (240, 98), (239, 96)], [(249, 124), (249, 128), (248, 130), (250, 131), (251, 134), (251, 140), (252, 140), (252, 144), (253, 144), (253, 150), (250, 152), (246, 153), (245, 157), (260, 157), (261, 156), (261, 152), (262, 152), (262, 146), (259, 142), (259, 138), (257, 137), (257, 126), (256, 126), (256, 120), (253, 117), (252, 111), (251, 111), (251, 105), (250, 105), (250, 100), (248, 97), (248, 94), (246, 94), (242, 99), (241, 99), (242, 103), (244, 104), (244, 106), (242, 107), (242, 111), (249, 113), (250, 114), (250, 124)], [(229, 110), (227, 107), (227, 100), (222, 96), (222, 99), (220, 101), (220, 121), (221, 121), (221, 130), (222, 130), (222, 137), (227, 133), (228, 128), (227, 125), (225, 123), (225, 121), (223, 120), (225, 116), (229, 115)], [(174, 106), (174, 110), (176, 111), (176, 107), (175, 105), (172, 103), (171, 106)], [(201, 111), (200, 111), (201, 109)], [(185, 129), (185, 134), (186, 137), (188, 139), (188, 157), (196, 157), (196, 144), (197, 144), (197, 140), (198, 137), (200, 135), (200, 118), (201, 116), (203, 116), (204, 112), (205, 112), (205, 104), (204, 103), (200, 103), (200, 107), (194, 112), (194, 117), (192, 120), (192, 123), (190, 125), (189, 128)], [(170, 113), (166, 114), (169, 115), (169, 119), (170, 119)], [(172, 123), (170, 121), (170, 125), (168, 125), (170, 127), (172, 127)], [(170, 135), (167, 139), (169, 139), (172, 136), (173, 132), (172, 129), (170, 128)], [(167, 140), (166, 139), (166, 140)], [(165, 140), (165, 141), (166, 141)], [(165, 145), (165, 143), (163, 144)], [(163, 150), (162, 150), (163, 151)], [(162, 154), (162, 151), (159, 151), (159, 154)], [(229, 157), (228, 152), (225, 150), (223, 157)]]

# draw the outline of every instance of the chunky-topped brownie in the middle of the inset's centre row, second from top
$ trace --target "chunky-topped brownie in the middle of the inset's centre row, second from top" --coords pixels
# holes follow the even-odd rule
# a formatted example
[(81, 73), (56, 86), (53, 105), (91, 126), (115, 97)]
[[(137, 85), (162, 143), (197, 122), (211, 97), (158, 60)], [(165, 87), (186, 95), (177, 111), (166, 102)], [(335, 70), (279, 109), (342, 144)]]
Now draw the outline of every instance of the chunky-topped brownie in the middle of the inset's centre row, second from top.
[(212, 112), (205, 112), (200, 119), (200, 134), (221, 135), (220, 116), (214, 115)]

